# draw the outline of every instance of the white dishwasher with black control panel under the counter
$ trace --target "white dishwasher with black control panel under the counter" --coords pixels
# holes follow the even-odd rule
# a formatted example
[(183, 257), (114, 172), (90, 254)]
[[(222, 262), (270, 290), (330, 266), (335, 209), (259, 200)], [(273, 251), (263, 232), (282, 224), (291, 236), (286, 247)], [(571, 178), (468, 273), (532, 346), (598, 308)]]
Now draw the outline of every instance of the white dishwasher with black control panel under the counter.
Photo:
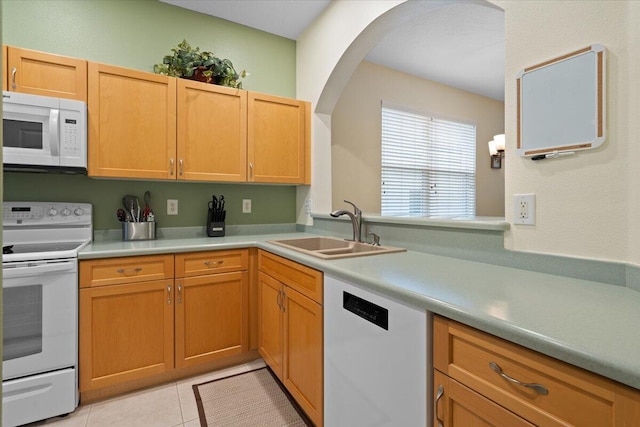
[(325, 275), (324, 425), (431, 425), (431, 321), (425, 310)]

